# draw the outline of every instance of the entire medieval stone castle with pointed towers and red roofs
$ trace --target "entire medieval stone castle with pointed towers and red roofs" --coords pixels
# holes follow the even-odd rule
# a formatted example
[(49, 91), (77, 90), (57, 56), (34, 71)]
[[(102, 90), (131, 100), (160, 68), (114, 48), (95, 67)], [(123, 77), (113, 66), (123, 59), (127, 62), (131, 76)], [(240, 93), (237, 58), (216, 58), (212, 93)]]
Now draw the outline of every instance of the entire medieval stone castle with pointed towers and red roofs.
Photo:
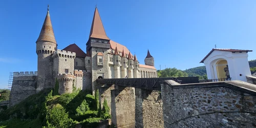
[[(37, 72), (14, 72), (14, 80), (21, 76), (37, 76), (36, 93), (54, 88), (59, 82), (59, 94), (71, 93), (73, 86), (95, 91), (98, 78), (157, 77), (154, 57), (147, 51), (145, 65), (123, 45), (105, 33), (97, 7), (95, 8), (86, 53), (76, 44), (59, 50), (50, 19), (49, 7), (36, 40)], [(15, 83), (14, 84), (20, 84)]]

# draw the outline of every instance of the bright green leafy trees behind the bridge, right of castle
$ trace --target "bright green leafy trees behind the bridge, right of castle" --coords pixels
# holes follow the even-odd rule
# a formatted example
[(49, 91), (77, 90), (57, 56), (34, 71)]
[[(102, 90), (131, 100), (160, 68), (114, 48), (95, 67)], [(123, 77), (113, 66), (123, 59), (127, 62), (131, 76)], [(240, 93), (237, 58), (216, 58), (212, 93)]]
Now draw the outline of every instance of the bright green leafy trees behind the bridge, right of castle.
[(160, 77), (186, 77), (187, 73), (176, 68), (166, 68), (161, 71)]

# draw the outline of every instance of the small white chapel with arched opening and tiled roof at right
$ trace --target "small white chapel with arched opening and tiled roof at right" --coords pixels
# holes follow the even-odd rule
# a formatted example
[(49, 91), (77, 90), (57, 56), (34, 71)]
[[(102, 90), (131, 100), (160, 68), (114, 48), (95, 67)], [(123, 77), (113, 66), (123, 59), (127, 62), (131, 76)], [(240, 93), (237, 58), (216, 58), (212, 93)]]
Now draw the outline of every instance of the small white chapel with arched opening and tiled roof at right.
[(200, 63), (204, 63), (208, 79), (247, 82), (246, 76), (251, 76), (248, 52), (252, 50), (212, 49)]

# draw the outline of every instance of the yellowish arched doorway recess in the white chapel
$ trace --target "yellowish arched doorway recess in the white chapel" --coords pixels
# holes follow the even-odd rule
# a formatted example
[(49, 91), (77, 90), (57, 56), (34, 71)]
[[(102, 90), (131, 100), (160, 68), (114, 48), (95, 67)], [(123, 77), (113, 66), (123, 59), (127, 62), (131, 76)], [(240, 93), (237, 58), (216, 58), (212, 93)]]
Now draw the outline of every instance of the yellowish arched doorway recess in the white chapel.
[(221, 59), (221, 60), (217, 61), (216, 62), (216, 70), (217, 70), (218, 79), (230, 78), (227, 60)]

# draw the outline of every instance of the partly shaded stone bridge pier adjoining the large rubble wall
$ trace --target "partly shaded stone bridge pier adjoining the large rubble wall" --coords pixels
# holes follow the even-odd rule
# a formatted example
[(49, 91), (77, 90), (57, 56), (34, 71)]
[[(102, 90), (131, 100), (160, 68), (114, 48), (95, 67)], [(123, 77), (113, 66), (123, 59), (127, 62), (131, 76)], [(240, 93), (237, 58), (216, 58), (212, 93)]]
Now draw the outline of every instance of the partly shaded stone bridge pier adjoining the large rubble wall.
[(135, 127), (164, 127), (161, 93), (135, 89)]

